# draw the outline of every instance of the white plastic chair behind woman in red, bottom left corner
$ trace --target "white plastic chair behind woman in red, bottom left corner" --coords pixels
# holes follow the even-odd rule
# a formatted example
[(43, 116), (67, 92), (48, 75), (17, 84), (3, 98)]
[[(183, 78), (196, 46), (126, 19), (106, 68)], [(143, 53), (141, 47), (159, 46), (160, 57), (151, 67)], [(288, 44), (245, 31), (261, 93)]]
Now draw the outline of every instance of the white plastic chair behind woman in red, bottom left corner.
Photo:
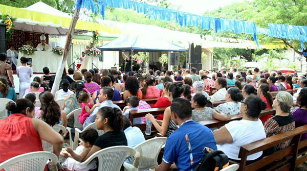
[(48, 160), (57, 163), (57, 157), (50, 152), (32, 152), (15, 156), (3, 163), (0, 163), (0, 170), (6, 171), (43, 171)]

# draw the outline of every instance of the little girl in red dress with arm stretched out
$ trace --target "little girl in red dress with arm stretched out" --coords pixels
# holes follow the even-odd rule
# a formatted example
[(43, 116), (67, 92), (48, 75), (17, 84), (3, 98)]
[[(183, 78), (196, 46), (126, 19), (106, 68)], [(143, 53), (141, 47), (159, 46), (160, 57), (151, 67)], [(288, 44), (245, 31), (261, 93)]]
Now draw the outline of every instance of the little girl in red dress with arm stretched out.
[(79, 121), (83, 125), (86, 117), (89, 117), (90, 114), (94, 111), (97, 106), (100, 106), (99, 103), (96, 103), (94, 106), (90, 104), (91, 94), (85, 90), (81, 91), (78, 95), (78, 101), (81, 103), (82, 112), (79, 114)]

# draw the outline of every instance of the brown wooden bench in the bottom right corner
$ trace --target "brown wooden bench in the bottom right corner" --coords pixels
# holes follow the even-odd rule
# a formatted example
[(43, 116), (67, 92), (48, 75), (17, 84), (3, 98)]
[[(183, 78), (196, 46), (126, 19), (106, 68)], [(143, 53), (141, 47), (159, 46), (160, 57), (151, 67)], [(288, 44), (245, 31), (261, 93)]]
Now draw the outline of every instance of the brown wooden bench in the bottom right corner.
[[(307, 125), (241, 146), (238, 156), (241, 158), (240, 163), (238, 163), (240, 165), (238, 170), (295, 170), (297, 165), (307, 160), (307, 155), (304, 155), (307, 140), (300, 141), (304, 133), (307, 133)], [(287, 140), (292, 140), (291, 145), (287, 148), (265, 156), (252, 164), (246, 164), (248, 155), (268, 150)], [(303, 156), (298, 157), (299, 154)]]

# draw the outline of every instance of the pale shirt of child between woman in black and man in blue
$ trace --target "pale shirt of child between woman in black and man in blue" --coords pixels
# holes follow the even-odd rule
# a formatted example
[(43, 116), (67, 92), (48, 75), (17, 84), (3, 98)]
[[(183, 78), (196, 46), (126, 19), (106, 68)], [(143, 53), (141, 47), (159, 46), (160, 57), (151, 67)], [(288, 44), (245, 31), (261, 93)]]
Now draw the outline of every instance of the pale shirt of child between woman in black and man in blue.
[(138, 127), (128, 127), (124, 130), (124, 133), (130, 148), (134, 148), (138, 144), (145, 141), (144, 134)]

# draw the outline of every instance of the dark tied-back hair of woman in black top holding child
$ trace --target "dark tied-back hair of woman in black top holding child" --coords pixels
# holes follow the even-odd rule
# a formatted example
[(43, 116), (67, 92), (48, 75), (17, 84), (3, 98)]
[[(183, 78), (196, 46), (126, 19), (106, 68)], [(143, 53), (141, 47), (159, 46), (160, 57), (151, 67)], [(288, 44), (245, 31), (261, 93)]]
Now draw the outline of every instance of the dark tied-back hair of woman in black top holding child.
[(103, 118), (108, 118), (108, 124), (114, 131), (120, 131), (123, 129), (123, 115), (120, 109), (104, 106), (98, 110), (98, 114)]

